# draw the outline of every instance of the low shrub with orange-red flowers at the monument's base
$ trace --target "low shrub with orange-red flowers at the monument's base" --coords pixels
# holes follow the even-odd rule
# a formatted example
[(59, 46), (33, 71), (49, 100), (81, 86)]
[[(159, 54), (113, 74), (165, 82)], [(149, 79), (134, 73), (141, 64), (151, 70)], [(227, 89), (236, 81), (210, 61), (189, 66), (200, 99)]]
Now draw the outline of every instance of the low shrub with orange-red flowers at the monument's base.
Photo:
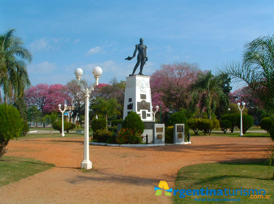
[(141, 134), (136, 133), (128, 128), (121, 129), (117, 135), (118, 144), (140, 144), (141, 142), (143, 142)]

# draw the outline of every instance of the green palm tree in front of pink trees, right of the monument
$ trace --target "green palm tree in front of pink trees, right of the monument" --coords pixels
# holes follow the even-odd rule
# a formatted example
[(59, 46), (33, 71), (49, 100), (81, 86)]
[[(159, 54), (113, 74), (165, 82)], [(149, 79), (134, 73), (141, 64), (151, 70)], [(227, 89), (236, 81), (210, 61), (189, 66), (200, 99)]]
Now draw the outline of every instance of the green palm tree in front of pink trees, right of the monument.
[(198, 74), (198, 79), (190, 86), (190, 90), (192, 90), (191, 104), (193, 106), (199, 104), (201, 110), (205, 108), (208, 119), (211, 119), (211, 115), (215, 112), (218, 101), (222, 101), (226, 106), (229, 104), (229, 99), (224, 94), (221, 83), (222, 80), (219, 77), (213, 76), (211, 71), (208, 71)]

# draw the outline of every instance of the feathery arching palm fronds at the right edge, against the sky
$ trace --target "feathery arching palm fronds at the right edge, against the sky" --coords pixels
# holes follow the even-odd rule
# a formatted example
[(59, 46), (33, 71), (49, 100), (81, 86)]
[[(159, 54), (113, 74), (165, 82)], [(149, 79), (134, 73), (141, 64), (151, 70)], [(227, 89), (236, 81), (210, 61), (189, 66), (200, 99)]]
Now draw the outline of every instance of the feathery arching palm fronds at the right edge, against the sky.
[(244, 46), (242, 62), (218, 67), (234, 82), (248, 85), (250, 94), (258, 98), (274, 119), (274, 36), (261, 36)]

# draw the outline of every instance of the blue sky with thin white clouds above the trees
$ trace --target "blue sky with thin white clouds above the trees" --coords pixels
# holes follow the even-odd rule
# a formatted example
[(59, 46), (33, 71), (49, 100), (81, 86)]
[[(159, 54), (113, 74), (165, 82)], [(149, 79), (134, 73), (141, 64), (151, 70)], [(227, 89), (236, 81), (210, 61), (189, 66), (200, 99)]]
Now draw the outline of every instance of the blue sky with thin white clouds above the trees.
[(274, 1), (1, 0), (0, 19), (0, 32), (15, 28), (33, 53), (32, 85), (66, 84), (78, 67), (93, 83), (95, 66), (103, 69), (99, 82), (107, 83), (131, 74), (136, 58), (124, 58), (140, 37), (147, 45), (146, 75), (174, 61), (214, 71), (240, 60), (245, 42), (273, 35)]

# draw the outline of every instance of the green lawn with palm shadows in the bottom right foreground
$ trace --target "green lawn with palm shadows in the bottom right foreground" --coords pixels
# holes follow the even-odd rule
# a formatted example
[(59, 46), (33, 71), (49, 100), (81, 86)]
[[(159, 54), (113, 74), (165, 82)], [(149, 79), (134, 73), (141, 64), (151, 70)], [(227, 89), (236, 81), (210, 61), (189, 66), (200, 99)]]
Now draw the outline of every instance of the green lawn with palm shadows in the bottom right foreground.
[[(273, 173), (274, 167), (271, 167)], [(232, 203), (229, 201), (194, 201), (194, 198), (240, 198), (236, 203), (274, 203), (274, 180), (267, 179), (265, 161), (248, 163), (207, 163), (183, 167), (173, 189), (264, 189), (269, 199), (252, 199), (250, 196), (173, 196), (174, 203)], [(273, 174), (272, 174), (273, 176)], [(169, 186), (169, 188), (171, 188)], [(223, 191), (224, 192), (224, 191)], [(232, 191), (231, 191), (232, 192)], [(239, 193), (239, 191), (238, 191)], [(263, 193), (263, 192), (262, 192)], [(263, 197), (265, 197), (265, 195)], [(233, 202), (235, 203), (235, 201)]]

